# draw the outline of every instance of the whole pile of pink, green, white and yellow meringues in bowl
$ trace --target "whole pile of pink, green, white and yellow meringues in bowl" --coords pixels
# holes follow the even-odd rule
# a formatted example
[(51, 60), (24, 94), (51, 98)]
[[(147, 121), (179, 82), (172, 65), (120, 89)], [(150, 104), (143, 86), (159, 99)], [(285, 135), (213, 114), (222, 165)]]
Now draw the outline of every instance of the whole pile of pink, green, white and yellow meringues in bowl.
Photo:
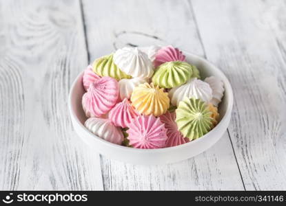
[(154, 149), (185, 144), (218, 123), (223, 82), (201, 80), (183, 52), (124, 47), (83, 73), (85, 127), (114, 144)]

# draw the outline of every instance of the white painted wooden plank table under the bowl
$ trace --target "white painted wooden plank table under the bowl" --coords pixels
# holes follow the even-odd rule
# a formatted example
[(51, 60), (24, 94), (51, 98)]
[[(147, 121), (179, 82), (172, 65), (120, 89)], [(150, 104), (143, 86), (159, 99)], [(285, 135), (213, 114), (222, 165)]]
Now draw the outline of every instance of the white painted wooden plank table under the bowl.
[[(286, 190), (286, 1), (0, 0), (0, 190)], [(224, 137), (192, 159), (129, 165), (72, 128), (71, 82), (124, 45), (171, 44), (234, 89)]]

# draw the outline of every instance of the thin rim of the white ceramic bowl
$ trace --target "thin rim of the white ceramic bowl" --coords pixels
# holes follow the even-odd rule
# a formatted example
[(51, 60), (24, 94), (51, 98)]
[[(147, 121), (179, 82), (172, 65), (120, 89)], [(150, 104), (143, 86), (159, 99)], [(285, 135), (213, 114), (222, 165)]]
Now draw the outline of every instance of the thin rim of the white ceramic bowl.
[[(201, 56), (198, 56), (196, 54), (192, 54), (190, 52), (184, 52), (183, 51), (183, 53), (186, 54), (186, 56), (193, 56), (194, 58), (197, 58), (198, 60), (207, 63), (208, 65), (210, 65), (212, 67), (212, 69), (214, 69), (216, 71), (216, 73), (220, 73), (220, 75), (223, 76), (223, 78), (225, 78), (225, 81), (224, 81), (225, 91), (227, 91), (229, 93), (229, 95), (228, 95), (229, 103), (227, 104), (225, 115), (223, 116), (221, 121), (218, 122), (218, 124), (212, 130), (210, 130), (210, 132), (208, 132), (207, 134), (203, 135), (202, 137), (200, 137), (198, 139), (195, 139), (196, 141), (190, 141), (190, 142), (187, 142), (185, 144), (181, 144), (178, 146), (172, 146), (172, 147), (168, 147), (168, 148), (140, 149), (140, 148), (130, 148), (127, 146), (121, 146), (118, 144), (113, 144), (109, 141), (106, 141), (105, 139), (102, 139), (101, 137), (94, 135), (92, 132), (90, 132), (90, 130), (88, 130), (88, 128), (85, 128), (85, 126), (83, 124), (81, 124), (78, 117), (76, 117), (74, 111), (72, 110), (72, 91), (74, 91), (74, 87), (76, 86), (76, 82), (78, 82), (79, 78), (81, 78), (81, 76), (83, 76), (84, 71), (82, 71), (81, 73), (79, 73), (78, 76), (76, 76), (74, 82), (72, 83), (72, 87), (70, 87), (70, 92), (68, 95), (68, 110), (70, 112), (70, 116), (75, 120), (76, 124), (81, 127), (81, 129), (85, 132), (85, 134), (92, 135), (94, 138), (96, 138), (97, 141), (101, 141), (102, 144), (105, 144), (105, 146), (109, 146), (109, 147), (117, 149), (117, 150), (123, 150), (125, 152), (126, 151), (140, 152), (140, 153), (169, 152), (171, 150), (180, 150), (181, 148), (192, 146), (192, 145), (198, 143), (199, 141), (204, 141), (204, 139), (210, 138), (209, 136), (212, 135), (212, 133), (216, 133), (216, 130), (219, 130), (219, 128), (221, 128), (225, 125), (224, 122), (227, 122), (227, 117), (229, 115), (231, 115), (231, 113), (232, 113), (232, 107), (234, 104), (234, 95), (232, 92), (232, 86), (229, 83), (229, 80), (227, 79), (227, 77), (225, 76), (223, 71), (221, 71), (221, 69), (218, 69), (218, 67), (216, 67), (214, 64), (212, 64), (212, 62), (209, 62), (207, 59), (205, 59)], [(79, 134), (77, 134), (77, 135), (79, 135)]]

